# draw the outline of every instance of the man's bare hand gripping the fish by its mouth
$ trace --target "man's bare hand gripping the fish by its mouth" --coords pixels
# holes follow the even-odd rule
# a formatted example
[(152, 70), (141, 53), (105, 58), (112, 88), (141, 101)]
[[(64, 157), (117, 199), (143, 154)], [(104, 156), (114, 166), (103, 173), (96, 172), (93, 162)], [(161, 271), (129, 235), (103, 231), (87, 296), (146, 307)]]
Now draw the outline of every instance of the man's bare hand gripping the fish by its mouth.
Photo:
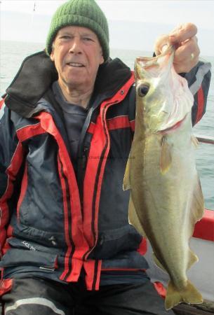
[(199, 46), (196, 38), (197, 28), (192, 23), (185, 23), (173, 29), (168, 35), (157, 38), (154, 52), (160, 55), (163, 46), (175, 46), (174, 67), (177, 73), (189, 72), (199, 61)]

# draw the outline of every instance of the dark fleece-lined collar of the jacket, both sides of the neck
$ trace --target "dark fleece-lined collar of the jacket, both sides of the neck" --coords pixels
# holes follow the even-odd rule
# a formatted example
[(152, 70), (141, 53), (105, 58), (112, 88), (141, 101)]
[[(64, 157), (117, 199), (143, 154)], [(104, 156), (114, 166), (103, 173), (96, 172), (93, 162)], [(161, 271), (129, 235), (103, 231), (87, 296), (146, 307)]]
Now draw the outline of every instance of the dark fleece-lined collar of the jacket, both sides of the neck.
[[(93, 94), (99, 99), (112, 97), (130, 77), (131, 70), (128, 66), (118, 58), (111, 59), (100, 66)], [(44, 97), (55, 80), (58, 80), (58, 73), (46, 52), (30, 55), (22, 62), (6, 90), (6, 106), (20, 116), (34, 116), (39, 111), (37, 102)]]

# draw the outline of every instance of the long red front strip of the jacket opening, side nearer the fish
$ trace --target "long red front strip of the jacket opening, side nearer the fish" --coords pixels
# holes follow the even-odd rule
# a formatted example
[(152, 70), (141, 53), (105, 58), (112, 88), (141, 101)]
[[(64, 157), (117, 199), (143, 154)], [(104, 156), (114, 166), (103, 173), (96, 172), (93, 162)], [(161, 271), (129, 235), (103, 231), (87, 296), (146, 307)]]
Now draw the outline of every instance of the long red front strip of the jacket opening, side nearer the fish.
[[(91, 139), (91, 148), (88, 154), (88, 163), (86, 166), (86, 174), (83, 186), (83, 229), (91, 249), (95, 246), (98, 240), (98, 211), (100, 204), (100, 193), (107, 156), (109, 154), (110, 141), (106, 121), (107, 109), (109, 106), (121, 102), (128, 94), (128, 91), (133, 83), (134, 76), (132, 73), (131, 78), (126, 82), (125, 85), (123, 85), (121, 90), (119, 90), (112, 99), (108, 99), (102, 103), (100, 106), (100, 115), (98, 116), (93, 132), (93, 137)], [(114, 126), (116, 121), (118, 122), (119, 120), (114, 120)], [(123, 124), (124, 120), (120, 120), (120, 122)], [(100, 169), (98, 169), (99, 167)], [(95, 186), (97, 186), (97, 191), (94, 200)], [(93, 209), (94, 206), (95, 209)]]

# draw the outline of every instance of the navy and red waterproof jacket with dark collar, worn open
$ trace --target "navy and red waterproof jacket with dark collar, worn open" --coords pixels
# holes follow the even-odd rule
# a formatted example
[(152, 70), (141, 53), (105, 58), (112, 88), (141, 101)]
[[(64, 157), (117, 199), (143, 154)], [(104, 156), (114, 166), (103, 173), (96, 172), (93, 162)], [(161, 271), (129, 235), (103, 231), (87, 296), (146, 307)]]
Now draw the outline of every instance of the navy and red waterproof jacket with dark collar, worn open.
[[(193, 123), (206, 108), (210, 71), (205, 68), (199, 63), (187, 74), (196, 90)], [(51, 90), (57, 79), (51, 59), (39, 52), (25, 59), (6, 91), (0, 124), (0, 267), (4, 278), (34, 274), (67, 282), (83, 272), (87, 288), (98, 289), (102, 271), (148, 267), (139, 249), (142, 237), (128, 223), (129, 192), (123, 191), (135, 129), (134, 77), (119, 59), (100, 66), (76, 174)]]

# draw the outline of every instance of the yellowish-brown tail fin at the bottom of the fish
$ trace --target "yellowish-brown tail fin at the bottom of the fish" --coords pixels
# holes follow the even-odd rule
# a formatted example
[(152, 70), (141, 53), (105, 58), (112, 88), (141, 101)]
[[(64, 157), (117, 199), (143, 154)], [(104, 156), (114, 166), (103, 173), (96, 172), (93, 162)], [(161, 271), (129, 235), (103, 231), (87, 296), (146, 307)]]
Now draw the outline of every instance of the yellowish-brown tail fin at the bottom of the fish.
[(165, 308), (171, 309), (181, 302), (200, 304), (203, 303), (203, 297), (190, 281), (187, 281), (187, 286), (181, 290), (178, 290), (172, 281), (169, 281), (166, 291)]

